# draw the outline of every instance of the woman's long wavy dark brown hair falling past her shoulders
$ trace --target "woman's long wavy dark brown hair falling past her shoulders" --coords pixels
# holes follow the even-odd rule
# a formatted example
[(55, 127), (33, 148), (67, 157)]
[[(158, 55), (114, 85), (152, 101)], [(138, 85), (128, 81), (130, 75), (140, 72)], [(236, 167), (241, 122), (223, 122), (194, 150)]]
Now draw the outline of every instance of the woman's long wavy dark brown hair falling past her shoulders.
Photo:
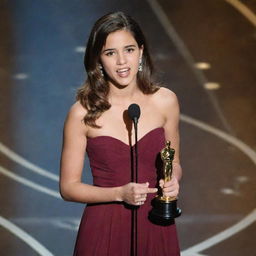
[(152, 94), (159, 87), (152, 82), (153, 65), (148, 52), (145, 37), (139, 25), (128, 15), (122, 12), (109, 13), (94, 24), (89, 36), (84, 56), (84, 66), (87, 72), (85, 84), (77, 92), (77, 100), (87, 110), (84, 123), (91, 127), (100, 128), (96, 120), (108, 110), (111, 105), (108, 102), (109, 84), (106, 76), (102, 76), (100, 70), (100, 55), (106, 43), (107, 36), (118, 30), (129, 31), (139, 48), (143, 47), (143, 70), (137, 73), (137, 84), (144, 94)]

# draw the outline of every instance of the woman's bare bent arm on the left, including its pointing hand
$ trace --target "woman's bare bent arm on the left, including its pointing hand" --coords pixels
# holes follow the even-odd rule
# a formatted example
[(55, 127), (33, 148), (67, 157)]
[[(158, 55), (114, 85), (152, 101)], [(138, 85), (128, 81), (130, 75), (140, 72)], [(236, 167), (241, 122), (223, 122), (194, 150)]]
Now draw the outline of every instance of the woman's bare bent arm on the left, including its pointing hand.
[(63, 199), (82, 203), (125, 201), (135, 205), (144, 202), (141, 195), (156, 192), (156, 189), (148, 188), (147, 183), (103, 188), (81, 182), (88, 129), (83, 122), (85, 114), (84, 108), (77, 102), (65, 121), (60, 165), (60, 193)]

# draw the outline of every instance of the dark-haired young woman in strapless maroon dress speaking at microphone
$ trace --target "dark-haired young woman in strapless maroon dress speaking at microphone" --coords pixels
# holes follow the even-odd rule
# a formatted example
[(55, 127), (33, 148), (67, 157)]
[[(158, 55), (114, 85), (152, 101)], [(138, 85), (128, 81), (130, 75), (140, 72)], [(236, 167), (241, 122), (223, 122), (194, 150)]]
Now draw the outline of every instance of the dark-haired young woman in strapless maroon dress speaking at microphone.
[[(74, 250), (76, 256), (130, 256), (131, 206), (137, 209), (138, 255), (180, 255), (175, 225), (151, 223), (148, 213), (160, 185), (179, 192), (179, 106), (173, 92), (152, 82), (152, 64), (138, 24), (122, 12), (94, 25), (85, 53), (87, 80), (68, 113), (63, 138), (60, 192), (65, 200), (87, 203)], [(140, 106), (138, 183), (131, 182), (131, 103)], [(170, 140), (173, 176), (157, 180), (156, 160)], [(81, 182), (87, 152), (93, 185)]]

